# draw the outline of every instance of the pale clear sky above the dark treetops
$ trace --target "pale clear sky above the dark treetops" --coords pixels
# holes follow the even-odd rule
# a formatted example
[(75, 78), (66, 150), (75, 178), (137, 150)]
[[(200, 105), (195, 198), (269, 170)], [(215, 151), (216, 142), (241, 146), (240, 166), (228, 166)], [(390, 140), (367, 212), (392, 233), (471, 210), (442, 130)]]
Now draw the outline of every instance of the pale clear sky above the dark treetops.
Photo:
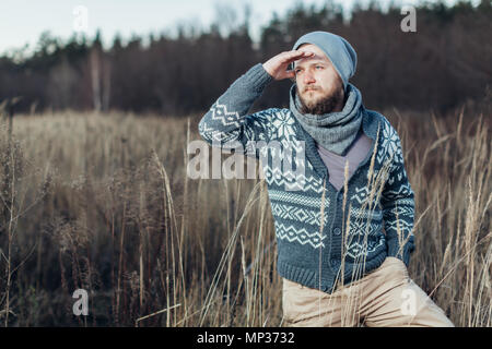
[[(216, 7), (230, 4), (237, 11), (237, 23), (243, 21), (245, 3), (251, 5), (250, 34), (258, 40), (260, 26), (272, 17), (273, 11), (282, 16), (300, 0), (0, 0), (0, 53), (20, 49), (26, 44), (27, 50), (35, 49), (44, 31), (62, 39), (68, 39), (86, 23), (86, 36), (93, 38), (97, 28), (103, 40), (110, 44), (119, 33), (124, 40), (132, 34), (148, 37), (150, 33), (174, 34), (176, 24), (200, 24), (208, 29), (216, 17)], [(326, 0), (304, 0), (303, 3), (321, 8)], [(354, 0), (335, 1), (343, 3), (345, 11)], [(368, 1), (359, 0), (363, 5)], [(396, 3), (415, 4), (417, 0), (397, 0)], [(446, 1), (453, 2), (452, 0)], [(385, 8), (389, 0), (380, 1)], [(87, 21), (74, 13), (82, 5), (87, 11)]]

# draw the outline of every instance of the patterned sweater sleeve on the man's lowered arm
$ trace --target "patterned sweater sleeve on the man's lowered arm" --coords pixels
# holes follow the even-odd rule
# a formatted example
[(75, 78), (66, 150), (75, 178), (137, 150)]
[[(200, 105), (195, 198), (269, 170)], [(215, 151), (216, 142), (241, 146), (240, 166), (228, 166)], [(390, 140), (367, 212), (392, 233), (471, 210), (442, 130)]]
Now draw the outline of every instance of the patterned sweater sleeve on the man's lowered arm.
[(397, 257), (407, 265), (414, 251), (413, 219), (414, 193), (403, 164), (401, 142), (394, 130), (393, 163), (382, 192), (383, 219), (388, 245), (388, 256)]

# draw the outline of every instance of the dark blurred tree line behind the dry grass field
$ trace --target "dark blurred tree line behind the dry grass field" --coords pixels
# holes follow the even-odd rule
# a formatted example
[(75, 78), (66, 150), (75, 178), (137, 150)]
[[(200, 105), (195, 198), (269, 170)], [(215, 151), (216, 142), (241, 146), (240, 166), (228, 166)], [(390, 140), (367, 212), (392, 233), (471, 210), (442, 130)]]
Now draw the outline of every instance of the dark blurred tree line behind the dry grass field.
[[(216, 21), (207, 29), (180, 26), (176, 37), (150, 34), (124, 43), (116, 36), (109, 48), (99, 32), (66, 41), (46, 32), (34, 53), (0, 57), (0, 101), (17, 98), (21, 112), (203, 112), (250, 67), (290, 50), (311, 31), (332, 32), (351, 43), (358, 53), (351, 82), (370, 109), (442, 112), (490, 98), (492, 0), (419, 4), (417, 32), (407, 33), (396, 5), (355, 4), (347, 16), (332, 1), (323, 8), (297, 3), (284, 15), (274, 13), (258, 43), (250, 36), (250, 10), (244, 8), (243, 21)], [(288, 107), (290, 85), (272, 84), (255, 108)]]

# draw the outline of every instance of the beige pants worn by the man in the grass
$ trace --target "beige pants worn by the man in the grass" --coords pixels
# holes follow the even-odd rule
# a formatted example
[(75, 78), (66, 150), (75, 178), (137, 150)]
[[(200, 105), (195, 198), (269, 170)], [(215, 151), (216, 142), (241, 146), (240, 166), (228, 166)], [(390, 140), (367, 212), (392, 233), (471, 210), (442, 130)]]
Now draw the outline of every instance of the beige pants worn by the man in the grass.
[(331, 294), (283, 279), (282, 301), (286, 326), (454, 327), (396, 257)]

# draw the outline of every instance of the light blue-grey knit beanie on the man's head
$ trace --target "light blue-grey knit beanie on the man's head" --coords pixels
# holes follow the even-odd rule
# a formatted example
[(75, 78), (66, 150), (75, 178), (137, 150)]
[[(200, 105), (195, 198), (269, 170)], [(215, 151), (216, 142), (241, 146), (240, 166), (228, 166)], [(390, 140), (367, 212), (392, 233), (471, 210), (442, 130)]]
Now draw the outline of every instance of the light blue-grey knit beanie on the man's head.
[(343, 88), (347, 91), (347, 83), (355, 73), (358, 65), (358, 55), (349, 41), (332, 33), (312, 32), (300, 37), (292, 49), (296, 50), (303, 44), (314, 44), (325, 52), (340, 75)]

